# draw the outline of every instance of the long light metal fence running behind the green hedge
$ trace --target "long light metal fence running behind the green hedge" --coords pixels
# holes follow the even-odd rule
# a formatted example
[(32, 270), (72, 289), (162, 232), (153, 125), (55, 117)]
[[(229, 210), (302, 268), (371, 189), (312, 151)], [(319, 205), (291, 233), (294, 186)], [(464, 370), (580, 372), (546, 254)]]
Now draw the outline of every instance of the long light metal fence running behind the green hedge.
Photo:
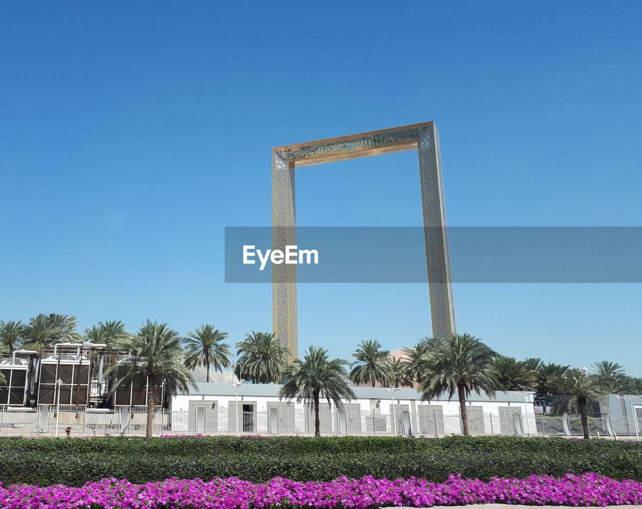
[[(438, 437), (461, 435), (460, 415), (441, 411), (404, 410), (394, 415), (354, 408), (336, 410), (325, 407), (319, 412), (322, 435), (413, 435)], [(39, 408), (0, 408), (0, 433), (3, 435), (72, 436), (144, 435), (147, 409), (144, 406), (95, 409), (60, 405)], [(589, 417), (591, 435), (636, 436), (642, 422), (627, 422), (621, 417), (616, 425), (609, 415)], [(562, 416), (523, 413), (469, 412), (471, 435), (582, 436), (579, 415)], [(279, 407), (263, 411), (236, 411), (235, 407), (213, 406), (189, 410), (155, 410), (155, 435), (313, 435), (315, 413), (309, 408)]]

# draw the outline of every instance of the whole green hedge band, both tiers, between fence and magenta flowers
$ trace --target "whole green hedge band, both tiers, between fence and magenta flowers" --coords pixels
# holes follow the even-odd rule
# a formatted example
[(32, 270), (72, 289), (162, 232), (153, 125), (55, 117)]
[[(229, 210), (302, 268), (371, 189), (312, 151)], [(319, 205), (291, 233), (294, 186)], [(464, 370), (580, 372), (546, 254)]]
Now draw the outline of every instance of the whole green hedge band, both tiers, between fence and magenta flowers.
[(305, 481), (366, 474), (444, 481), (456, 472), (488, 480), (587, 471), (642, 480), (642, 447), (511, 437), (0, 439), (0, 480), (40, 485), (81, 485), (105, 477), (142, 483), (172, 476)]

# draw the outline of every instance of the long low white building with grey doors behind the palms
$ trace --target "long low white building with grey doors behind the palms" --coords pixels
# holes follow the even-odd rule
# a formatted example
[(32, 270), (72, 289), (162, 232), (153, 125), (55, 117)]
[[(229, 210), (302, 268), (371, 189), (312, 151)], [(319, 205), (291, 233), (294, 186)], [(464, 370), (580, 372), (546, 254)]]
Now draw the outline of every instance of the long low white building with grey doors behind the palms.
[[(219, 377), (221, 375), (218, 375)], [(200, 378), (200, 377), (199, 377)], [(171, 399), (173, 433), (309, 434), (314, 432), (314, 412), (296, 400), (279, 400), (281, 385), (197, 383), (189, 395)], [(352, 387), (357, 399), (336, 410), (323, 400), (320, 428), (323, 434), (349, 435), (449, 435), (460, 434), (459, 401), (447, 396), (421, 401), (414, 388), (393, 394), (381, 387)], [(497, 392), (491, 399), (471, 394), (467, 415), (474, 435), (528, 435), (536, 433), (533, 397)], [(238, 405), (238, 406), (237, 406)]]

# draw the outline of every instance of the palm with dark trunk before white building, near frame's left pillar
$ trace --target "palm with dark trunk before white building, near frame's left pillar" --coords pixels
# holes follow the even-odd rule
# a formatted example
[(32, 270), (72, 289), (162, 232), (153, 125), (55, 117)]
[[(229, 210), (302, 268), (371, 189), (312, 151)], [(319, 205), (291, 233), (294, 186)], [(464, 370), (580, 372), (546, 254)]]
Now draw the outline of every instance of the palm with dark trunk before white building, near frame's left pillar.
[(347, 360), (328, 360), (325, 348), (310, 346), (303, 361), (295, 360), (284, 372), (286, 383), (279, 390), (279, 399), (297, 398), (313, 406), (315, 410), (315, 437), (320, 435), (319, 401), (324, 397), (328, 404), (334, 403), (338, 410), (342, 408), (341, 400), (356, 399), (347, 383), (347, 372), (344, 366)]

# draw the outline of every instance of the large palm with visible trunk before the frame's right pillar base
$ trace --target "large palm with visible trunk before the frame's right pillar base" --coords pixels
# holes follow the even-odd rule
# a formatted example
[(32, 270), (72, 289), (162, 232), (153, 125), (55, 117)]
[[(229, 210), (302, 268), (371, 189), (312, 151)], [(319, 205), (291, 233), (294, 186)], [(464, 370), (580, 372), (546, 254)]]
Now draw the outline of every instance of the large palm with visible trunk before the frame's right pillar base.
[(449, 338), (428, 360), (430, 370), (419, 384), (421, 399), (426, 401), (444, 392), (448, 392), (448, 399), (452, 399), (456, 392), (464, 435), (469, 435), (466, 397), (471, 390), (477, 394), (483, 390), (488, 396), (495, 396), (497, 381), (491, 363), (496, 355), (474, 336), (462, 334)]

